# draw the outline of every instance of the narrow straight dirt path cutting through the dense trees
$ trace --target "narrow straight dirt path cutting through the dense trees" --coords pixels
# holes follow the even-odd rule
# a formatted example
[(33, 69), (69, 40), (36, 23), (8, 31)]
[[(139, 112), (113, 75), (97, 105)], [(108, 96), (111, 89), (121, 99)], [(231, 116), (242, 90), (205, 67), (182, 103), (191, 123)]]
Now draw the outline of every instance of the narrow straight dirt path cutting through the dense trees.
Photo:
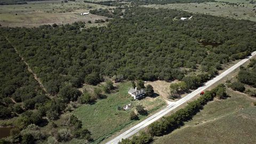
[[(5, 36), (6, 41), (8, 41), (11, 45), (12, 43), (9, 41), (9, 39)], [(36, 81), (38, 82), (39, 86), (43, 89), (43, 91), (45, 92), (45, 95), (47, 97), (49, 97), (50, 99), (52, 99), (52, 95), (49, 94), (47, 92), (47, 90), (45, 89), (44, 85), (42, 84), (41, 80), (36, 76), (36, 74), (34, 73), (34, 71), (29, 67), (28, 63), (23, 59), (23, 57), (20, 55), (20, 53), (18, 52), (18, 50), (14, 47), (14, 45), (12, 45), (13, 49), (15, 50), (15, 52), (19, 55), (19, 57), (21, 58), (21, 60), (26, 64), (28, 71), (33, 74), (34, 78), (36, 79)]]

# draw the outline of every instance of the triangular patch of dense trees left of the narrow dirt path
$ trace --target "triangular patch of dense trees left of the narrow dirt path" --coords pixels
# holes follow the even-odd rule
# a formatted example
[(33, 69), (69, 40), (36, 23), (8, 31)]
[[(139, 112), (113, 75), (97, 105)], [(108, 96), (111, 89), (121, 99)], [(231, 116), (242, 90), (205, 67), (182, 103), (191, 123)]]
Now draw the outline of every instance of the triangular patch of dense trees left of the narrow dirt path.
[[(42, 88), (27, 70), (25, 63), (13, 46), (0, 36), (0, 119), (22, 113), (23, 109), (34, 109), (36, 103), (47, 100)], [(13, 103), (23, 102), (19, 108)], [(3, 107), (2, 107), (3, 106)]]

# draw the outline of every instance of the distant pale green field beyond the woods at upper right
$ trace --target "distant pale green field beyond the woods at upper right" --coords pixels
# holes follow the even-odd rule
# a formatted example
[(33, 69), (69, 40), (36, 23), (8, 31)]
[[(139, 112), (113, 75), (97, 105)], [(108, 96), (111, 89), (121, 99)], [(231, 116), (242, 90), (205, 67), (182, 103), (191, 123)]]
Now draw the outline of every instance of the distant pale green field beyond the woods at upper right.
[[(228, 1), (228, 0), (226, 0)], [(236, 1), (229, 1), (230, 3), (235, 3)], [(232, 6), (222, 2), (217, 3), (189, 3), (189, 4), (166, 4), (166, 5), (144, 5), (145, 7), (155, 7), (155, 8), (168, 8), (183, 10), (192, 13), (203, 13), (210, 14), (219, 17), (227, 17), (234, 19), (245, 19), (256, 21), (256, 11), (255, 5), (249, 2), (241, 3), (239, 6)]]

